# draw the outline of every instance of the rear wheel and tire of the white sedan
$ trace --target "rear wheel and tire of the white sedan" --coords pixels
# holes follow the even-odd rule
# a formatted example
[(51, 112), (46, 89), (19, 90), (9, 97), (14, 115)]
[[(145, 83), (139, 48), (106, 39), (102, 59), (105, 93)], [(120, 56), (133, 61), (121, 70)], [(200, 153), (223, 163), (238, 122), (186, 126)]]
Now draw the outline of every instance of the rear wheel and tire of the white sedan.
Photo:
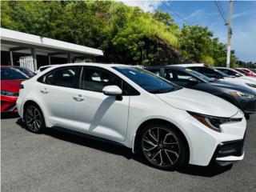
[(42, 111), (36, 104), (29, 104), (24, 110), (26, 128), (35, 134), (41, 134), (46, 129)]

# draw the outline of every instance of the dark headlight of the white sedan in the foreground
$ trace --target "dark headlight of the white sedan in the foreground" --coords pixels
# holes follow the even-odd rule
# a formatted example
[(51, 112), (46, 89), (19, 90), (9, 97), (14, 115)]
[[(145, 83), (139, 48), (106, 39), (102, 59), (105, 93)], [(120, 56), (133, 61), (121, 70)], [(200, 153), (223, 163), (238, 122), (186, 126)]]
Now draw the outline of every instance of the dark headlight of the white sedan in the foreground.
[(190, 115), (192, 115), (194, 118), (196, 118), (198, 122), (202, 122), (203, 125), (217, 132), (222, 132), (220, 125), (227, 122), (231, 122), (230, 118), (218, 118), (218, 117), (212, 117), (206, 114), (197, 114), (190, 111), (187, 111), (187, 112)]

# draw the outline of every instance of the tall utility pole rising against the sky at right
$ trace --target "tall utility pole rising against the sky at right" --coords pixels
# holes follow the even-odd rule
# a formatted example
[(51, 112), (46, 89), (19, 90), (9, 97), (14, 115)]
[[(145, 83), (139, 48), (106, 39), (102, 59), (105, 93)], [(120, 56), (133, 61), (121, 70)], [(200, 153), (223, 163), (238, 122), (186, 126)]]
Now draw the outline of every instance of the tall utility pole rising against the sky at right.
[(230, 14), (229, 14), (229, 23), (228, 23), (228, 28), (227, 28), (227, 51), (226, 51), (226, 67), (227, 68), (230, 68), (232, 14), (233, 14), (233, 0), (230, 0)]

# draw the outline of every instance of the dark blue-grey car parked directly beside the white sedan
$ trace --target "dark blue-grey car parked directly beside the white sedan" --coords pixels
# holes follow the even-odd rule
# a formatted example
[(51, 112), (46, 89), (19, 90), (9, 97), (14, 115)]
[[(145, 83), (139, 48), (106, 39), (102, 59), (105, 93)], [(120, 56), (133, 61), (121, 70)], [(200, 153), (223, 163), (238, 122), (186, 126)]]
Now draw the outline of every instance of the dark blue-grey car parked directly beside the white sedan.
[(249, 118), (249, 114), (256, 113), (256, 94), (243, 86), (216, 81), (182, 66), (154, 66), (146, 68), (146, 70), (158, 74), (178, 86), (202, 90), (223, 98), (238, 106), (246, 114), (246, 118)]

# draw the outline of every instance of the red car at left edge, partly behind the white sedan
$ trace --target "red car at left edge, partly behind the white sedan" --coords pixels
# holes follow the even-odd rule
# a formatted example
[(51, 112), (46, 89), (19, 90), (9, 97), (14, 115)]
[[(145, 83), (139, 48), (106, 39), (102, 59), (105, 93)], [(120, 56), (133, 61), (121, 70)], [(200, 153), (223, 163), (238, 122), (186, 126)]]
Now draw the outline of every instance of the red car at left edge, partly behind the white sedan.
[(11, 66), (1, 66), (1, 113), (17, 112), (19, 86), (29, 79), (22, 71)]

